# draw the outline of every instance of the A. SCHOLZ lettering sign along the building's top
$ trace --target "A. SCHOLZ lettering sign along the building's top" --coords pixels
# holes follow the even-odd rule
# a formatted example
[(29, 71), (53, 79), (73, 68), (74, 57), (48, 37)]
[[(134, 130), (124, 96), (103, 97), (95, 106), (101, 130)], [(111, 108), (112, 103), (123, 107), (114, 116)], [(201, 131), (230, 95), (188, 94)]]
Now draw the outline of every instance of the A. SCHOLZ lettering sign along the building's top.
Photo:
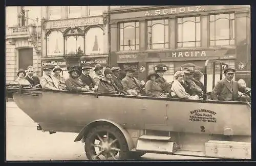
[(161, 10), (146, 11), (145, 16), (156, 16), (164, 14), (179, 14), (179, 13), (190, 13), (190, 12), (200, 12), (204, 11), (201, 6), (190, 6), (190, 7), (180, 7), (180, 8), (170, 8)]

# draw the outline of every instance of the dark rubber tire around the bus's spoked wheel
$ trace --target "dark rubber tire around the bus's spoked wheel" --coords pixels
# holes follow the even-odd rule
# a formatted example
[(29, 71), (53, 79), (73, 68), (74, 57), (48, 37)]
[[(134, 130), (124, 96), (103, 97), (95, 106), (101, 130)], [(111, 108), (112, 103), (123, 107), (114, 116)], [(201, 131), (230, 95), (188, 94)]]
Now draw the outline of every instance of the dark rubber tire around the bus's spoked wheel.
[(120, 144), (120, 149), (121, 149), (121, 152), (119, 152), (118, 159), (120, 159), (120, 160), (129, 159), (129, 148), (128, 148), (127, 142), (125, 140), (125, 137), (123, 136), (123, 134), (121, 133), (121, 131), (119, 131), (119, 129), (117, 127), (109, 126), (109, 125), (97, 126), (88, 132), (88, 134), (86, 135), (86, 140), (84, 142), (85, 143), (84, 150), (86, 151), (87, 158), (89, 160), (92, 160), (92, 156), (93, 156), (93, 154), (91, 154), (91, 151), (90, 151), (90, 146), (87, 146), (87, 145), (91, 144), (90, 140), (92, 139), (92, 136), (95, 133), (98, 133), (101, 131), (109, 132), (116, 137), (118, 143)]

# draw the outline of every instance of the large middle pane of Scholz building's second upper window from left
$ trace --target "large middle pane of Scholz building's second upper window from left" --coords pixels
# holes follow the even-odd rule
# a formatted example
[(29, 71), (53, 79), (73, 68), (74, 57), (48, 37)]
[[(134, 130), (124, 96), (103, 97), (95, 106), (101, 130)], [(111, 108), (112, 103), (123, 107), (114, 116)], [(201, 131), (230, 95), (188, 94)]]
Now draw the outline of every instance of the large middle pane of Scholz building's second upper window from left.
[(152, 43), (164, 43), (164, 25), (155, 24), (152, 29)]

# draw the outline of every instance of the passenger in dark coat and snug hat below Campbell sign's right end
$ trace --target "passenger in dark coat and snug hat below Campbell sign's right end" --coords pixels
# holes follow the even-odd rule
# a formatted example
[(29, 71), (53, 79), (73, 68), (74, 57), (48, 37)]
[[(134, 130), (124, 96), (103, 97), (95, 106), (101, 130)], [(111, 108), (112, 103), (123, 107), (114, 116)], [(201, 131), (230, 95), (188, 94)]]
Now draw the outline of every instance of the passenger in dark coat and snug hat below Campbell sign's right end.
[(110, 68), (105, 68), (104, 77), (100, 79), (98, 85), (98, 93), (118, 93), (115, 88), (114, 81), (112, 80), (112, 71)]

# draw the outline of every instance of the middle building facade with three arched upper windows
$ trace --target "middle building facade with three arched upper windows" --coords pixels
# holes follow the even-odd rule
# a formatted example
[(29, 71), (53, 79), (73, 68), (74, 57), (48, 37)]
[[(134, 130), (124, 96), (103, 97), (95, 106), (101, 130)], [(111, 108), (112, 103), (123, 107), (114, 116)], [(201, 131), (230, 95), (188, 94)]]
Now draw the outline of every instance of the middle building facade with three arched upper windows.
[(106, 11), (108, 6), (42, 7), (46, 21), (42, 25), (41, 67), (59, 65), (67, 78), (70, 66), (108, 65)]

